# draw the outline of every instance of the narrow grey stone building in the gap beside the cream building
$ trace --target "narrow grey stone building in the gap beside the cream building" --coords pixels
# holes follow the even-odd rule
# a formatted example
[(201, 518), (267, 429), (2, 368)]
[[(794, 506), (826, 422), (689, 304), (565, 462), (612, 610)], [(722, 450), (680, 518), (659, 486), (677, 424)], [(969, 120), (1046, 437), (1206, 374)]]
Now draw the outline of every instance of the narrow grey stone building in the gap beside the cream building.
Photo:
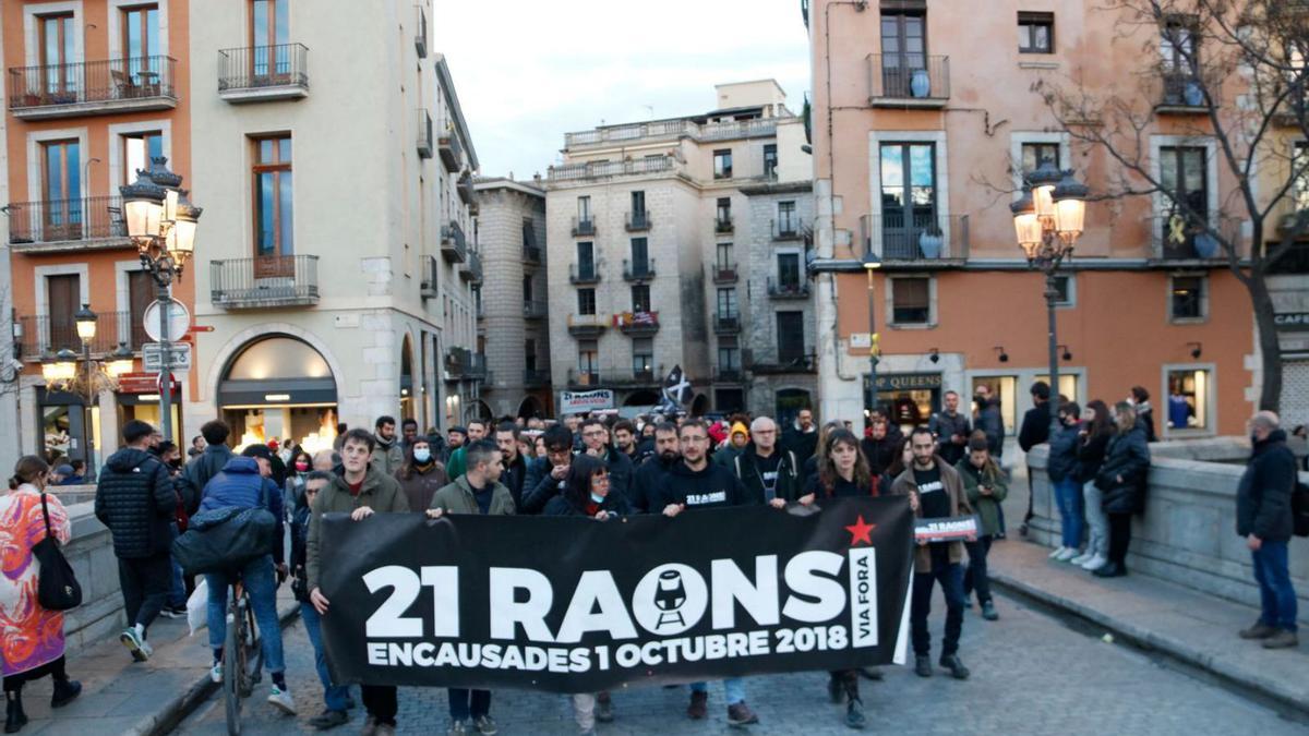
[(478, 179), (478, 346), (487, 416), (552, 416), (546, 320), (546, 191), (541, 182)]

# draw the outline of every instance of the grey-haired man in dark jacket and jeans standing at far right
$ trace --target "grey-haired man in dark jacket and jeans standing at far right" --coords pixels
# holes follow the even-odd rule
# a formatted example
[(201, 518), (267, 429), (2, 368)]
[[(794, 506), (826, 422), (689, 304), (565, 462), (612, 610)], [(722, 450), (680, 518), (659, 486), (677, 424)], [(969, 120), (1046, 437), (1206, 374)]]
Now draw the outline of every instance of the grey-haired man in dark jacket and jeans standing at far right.
[(1250, 418), (1250, 464), (1236, 492), (1236, 533), (1250, 547), (1261, 602), (1259, 621), (1242, 630), (1241, 638), (1261, 639), (1266, 650), (1300, 646), (1287, 549), (1293, 530), (1291, 494), (1296, 486), (1296, 458), (1279, 424), (1272, 411)]

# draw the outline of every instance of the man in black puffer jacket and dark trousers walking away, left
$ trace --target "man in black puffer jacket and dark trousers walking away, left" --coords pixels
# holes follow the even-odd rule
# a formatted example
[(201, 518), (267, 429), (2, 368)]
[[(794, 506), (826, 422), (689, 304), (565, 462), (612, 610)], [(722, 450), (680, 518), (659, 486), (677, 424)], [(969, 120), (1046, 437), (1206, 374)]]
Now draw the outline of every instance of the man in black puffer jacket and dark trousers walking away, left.
[(154, 428), (123, 426), (127, 447), (109, 456), (96, 486), (96, 519), (114, 537), (127, 629), (118, 639), (136, 661), (151, 657), (145, 630), (168, 604), (173, 585), (173, 519), (177, 491), (168, 468), (147, 451)]

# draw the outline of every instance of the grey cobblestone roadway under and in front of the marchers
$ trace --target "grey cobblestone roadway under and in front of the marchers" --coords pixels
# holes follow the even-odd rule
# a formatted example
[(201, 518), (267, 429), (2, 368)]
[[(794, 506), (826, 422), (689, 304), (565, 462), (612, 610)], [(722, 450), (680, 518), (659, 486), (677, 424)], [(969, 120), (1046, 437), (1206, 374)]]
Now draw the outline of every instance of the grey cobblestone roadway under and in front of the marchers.
[[(1007, 542), (1014, 543), (1014, 542)], [(942, 602), (936, 601), (933, 638), (940, 635)], [(937, 673), (916, 677), (908, 668), (886, 668), (882, 682), (864, 680), (869, 731), (886, 733), (1304, 733), (1305, 724), (1249, 702), (1219, 686), (1160, 665), (1131, 648), (1106, 644), (1007, 597), (997, 598), (1001, 619), (984, 622), (970, 612), (961, 656), (973, 677), (957, 682)], [(296, 726), (322, 708), (322, 690), (304, 627), (287, 630), (291, 688), (300, 708)], [(937, 652), (933, 652), (933, 655)], [(1270, 653), (1268, 656), (1278, 656)], [(933, 656), (935, 661), (935, 656)], [(267, 680), (266, 680), (267, 682)], [(827, 703), (826, 674), (793, 673), (747, 680), (747, 702), (759, 714), (754, 733), (847, 733), (843, 708)], [(617, 720), (601, 733), (723, 733), (728, 728), (723, 690), (709, 689), (709, 719), (686, 719), (687, 690), (641, 688), (615, 693)], [(262, 694), (263, 691), (260, 691)], [(357, 699), (357, 691), (356, 691)], [(285, 733), (292, 722), (260, 701), (243, 710), (246, 732)], [(491, 714), (501, 733), (573, 733), (572, 711), (560, 695), (496, 691)], [(336, 732), (353, 733), (363, 708)], [(401, 733), (444, 732), (445, 691), (401, 690)], [(223, 702), (211, 698), (178, 729), (224, 733)]]

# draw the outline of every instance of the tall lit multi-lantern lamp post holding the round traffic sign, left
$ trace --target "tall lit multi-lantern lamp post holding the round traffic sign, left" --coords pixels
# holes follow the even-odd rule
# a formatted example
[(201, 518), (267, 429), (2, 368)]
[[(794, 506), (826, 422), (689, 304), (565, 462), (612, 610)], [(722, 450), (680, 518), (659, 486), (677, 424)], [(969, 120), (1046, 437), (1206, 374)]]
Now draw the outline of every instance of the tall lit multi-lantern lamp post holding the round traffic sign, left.
[[(168, 158), (151, 158), (151, 170), (136, 170), (136, 181), (118, 187), (123, 195), (127, 234), (136, 244), (141, 265), (151, 272), (160, 308), (160, 432), (173, 439), (171, 335), (168, 334), (173, 280), (195, 253), (200, 208), (187, 199), (182, 177), (168, 168)], [(182, 337), (182, 335), (178, 335)]]

